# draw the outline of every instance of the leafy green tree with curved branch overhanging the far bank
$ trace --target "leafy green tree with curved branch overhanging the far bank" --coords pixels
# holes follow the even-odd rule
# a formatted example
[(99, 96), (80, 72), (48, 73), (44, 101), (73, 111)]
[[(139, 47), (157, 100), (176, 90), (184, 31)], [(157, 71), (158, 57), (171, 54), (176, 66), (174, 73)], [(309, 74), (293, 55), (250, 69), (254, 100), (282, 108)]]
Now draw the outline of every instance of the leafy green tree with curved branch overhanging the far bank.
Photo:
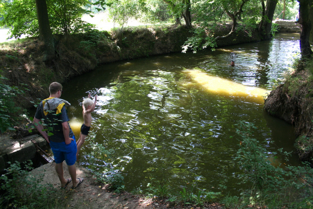
[[(256, 4), (254, 0), (198, 0), (193, 3), (194, 23), (196, 28), (194, 35), (185, 42), (183, 52), (191, 48), (194, 52), (207, 47), (214, 48), (216, 41), (230, 37), (240, 19), (241, 26), (247, 31), (255, 26), (258, 13), (252, 9)], [(225, 35), (214, 37), (215, 31), (232, 21), (232, 28)], [(205, 34), (205, 35), (204, 35)]]

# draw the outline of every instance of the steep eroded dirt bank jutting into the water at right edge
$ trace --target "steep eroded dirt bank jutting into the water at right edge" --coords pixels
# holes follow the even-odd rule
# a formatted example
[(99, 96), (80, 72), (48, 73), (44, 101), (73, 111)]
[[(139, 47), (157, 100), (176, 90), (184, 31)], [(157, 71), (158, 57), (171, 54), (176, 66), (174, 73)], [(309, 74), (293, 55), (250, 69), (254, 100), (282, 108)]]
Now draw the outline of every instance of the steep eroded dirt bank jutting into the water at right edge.
[(296, 72), (271, 91), (265, 100), (268, 114), (295, 127), (296, 148), (303, 161), (313, 163), (313, 82), (312, 64), (299, 62)]

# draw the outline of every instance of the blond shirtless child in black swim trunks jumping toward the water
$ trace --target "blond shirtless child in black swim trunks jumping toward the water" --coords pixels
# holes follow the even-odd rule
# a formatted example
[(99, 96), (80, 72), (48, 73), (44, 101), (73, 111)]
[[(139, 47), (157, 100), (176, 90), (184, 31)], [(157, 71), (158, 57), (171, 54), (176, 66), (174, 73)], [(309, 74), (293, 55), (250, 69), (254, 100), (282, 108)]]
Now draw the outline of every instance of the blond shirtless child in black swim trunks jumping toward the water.
[(94, 111), (97, 103), (97, 96), (95, 96), (95, 102), (90, 99), (90, 93), (88, 94), (88, 98), (82, 101), (82, 116), (84, 118), (84, 123), (81, 125), (79, 139), (76, 142), (77, 144), (77, 153), (76, 157), (78, 157), (81, 145), (85, 142), (85, 138), (88, 135), (91, 125), (91, 112)]

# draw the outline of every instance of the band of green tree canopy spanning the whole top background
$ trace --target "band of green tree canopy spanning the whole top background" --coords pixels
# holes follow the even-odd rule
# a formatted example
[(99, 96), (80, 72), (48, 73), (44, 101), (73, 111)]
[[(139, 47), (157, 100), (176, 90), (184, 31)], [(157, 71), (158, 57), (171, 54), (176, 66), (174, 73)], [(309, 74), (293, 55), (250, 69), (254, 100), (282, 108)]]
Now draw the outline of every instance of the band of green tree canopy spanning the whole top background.
[[(309, 0), (298, 0), (309, 1)], [(46, 0), (53, 34), (71, 34), (92, 27), (81, 20), (83, 14), (108, 9), (109, 17), (120, 26), (130, 19), (144, 23), (172, 22), (192, 28), (194, 35), (183, 46), (183, 52), (214, 48), (216, 41), (231, 36), (236, 28), (251, 33), (256, 28), (262, 38), (272, 36), (272, 20), (282, 15), (293, 18), (295, 0)], [(35, 0), (1, 0), (0, 26), (12, 26), (11, 37), (22, 34), (38, 36)], [(308, 16), (309, 17), (309, 16)], [(310, 18), (309, 18), (310, 19)], [(312, 19), (312, 18), (311, 18)], [(301, 22), (302, 23), (302, 22)], [(232, 27), (224, 35), (214, 36), (220, 26)], [(206, 34), (206, 35), (204, 35)], [(310, 32), (306, 34), (309, 36)]]

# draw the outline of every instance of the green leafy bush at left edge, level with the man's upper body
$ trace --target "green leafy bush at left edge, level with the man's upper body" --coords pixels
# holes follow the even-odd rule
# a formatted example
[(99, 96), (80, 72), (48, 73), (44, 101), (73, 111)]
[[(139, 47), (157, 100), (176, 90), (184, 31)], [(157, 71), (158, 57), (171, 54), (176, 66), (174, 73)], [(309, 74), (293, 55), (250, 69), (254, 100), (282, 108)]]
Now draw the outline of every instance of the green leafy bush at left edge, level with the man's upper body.
[(21, 110), (20, 107), (15, 106), (14, 99), (24, 93), (16, 86), (6, 85), (6, 79), (0, 76), (0, 132), (14, 130), (15, 116)]

